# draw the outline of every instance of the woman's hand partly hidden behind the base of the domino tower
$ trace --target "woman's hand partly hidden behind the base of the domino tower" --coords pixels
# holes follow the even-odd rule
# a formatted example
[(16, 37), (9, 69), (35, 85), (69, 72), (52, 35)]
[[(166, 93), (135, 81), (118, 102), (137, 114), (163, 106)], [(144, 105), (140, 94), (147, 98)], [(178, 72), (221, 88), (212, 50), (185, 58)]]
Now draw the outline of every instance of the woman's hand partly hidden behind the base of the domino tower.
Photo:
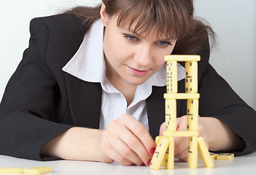
[[(166, 123), (163, 123), (160, 126), (160, 136), (163, 135), (163, 131), (166, 131)], [(177, 118), (177, 131), (187, 131), (187, 115)], [(206, 147), (209, 148), (208, 137), (206, 136), (205, 127), (201, 117), (198, 118), (198, 134), (203, 137)], [(188, 138), (174, 137), (174, 157), (182, 162), (187, 162), (187, 151)]]

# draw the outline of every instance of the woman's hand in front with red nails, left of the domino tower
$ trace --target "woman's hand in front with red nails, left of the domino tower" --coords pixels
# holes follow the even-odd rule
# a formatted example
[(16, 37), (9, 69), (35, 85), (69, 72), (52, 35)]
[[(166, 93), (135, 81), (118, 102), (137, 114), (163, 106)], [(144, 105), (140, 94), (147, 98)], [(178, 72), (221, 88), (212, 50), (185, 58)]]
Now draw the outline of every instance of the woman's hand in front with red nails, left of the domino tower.
[(130, 114), (123, 114), (109, 123), (102, 133), (99, 154), (104, 162), (116, 161), (125, 166), (141, 166), (150, 162), (150, 151), (155, 147), (155, 141), (147, 128)]

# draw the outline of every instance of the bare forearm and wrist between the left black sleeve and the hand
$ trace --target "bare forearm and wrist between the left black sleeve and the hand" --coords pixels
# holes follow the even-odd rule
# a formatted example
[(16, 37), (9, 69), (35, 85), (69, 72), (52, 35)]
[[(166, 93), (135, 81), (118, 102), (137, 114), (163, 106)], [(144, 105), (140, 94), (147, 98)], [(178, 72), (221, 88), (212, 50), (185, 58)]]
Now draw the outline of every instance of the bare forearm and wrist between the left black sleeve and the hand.
[(66, 160), (99, 161), (98, 140), (102, 131), (73, 127), (60, 136), (47, 141), (41, 149), (42, 155), (50, 155)]

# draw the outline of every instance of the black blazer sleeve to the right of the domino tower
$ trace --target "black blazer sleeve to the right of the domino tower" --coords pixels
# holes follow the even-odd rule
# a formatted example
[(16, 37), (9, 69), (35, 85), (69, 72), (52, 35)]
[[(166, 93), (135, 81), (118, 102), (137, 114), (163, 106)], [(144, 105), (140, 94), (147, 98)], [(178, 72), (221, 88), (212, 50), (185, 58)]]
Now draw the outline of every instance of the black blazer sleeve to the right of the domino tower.
[(255, 152), (256, 112), (217, 74), (209, 64), (209, 45), (204, 48), (198, 63), (199, 115), (216, 117), (244, 141), (244, 149), (234, 150), (235, 155)]

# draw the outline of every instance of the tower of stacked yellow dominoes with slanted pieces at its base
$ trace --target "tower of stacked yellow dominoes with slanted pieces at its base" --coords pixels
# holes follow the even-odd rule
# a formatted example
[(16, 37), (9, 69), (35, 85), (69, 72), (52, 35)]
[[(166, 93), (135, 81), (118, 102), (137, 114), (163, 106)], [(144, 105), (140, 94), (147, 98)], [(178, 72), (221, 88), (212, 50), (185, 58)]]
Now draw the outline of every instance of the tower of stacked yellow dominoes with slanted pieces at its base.
[[(166, 61), (166, 131), (157, 136), (157, 147), (150, 168), (165, 166), (174, 168), (174, 137), (188, 137), (189, 168), (197, 168), (198, 150), (206, 168), (214, 166), (212, 158), (201, 136), (198, 136), (198, 61), (200, 55), (167, 55)], [(185, 61), (185, 93), (178, 93), (177, 61)], [(187, 131), (177, 131), (177, 99), (187, 99)]]

